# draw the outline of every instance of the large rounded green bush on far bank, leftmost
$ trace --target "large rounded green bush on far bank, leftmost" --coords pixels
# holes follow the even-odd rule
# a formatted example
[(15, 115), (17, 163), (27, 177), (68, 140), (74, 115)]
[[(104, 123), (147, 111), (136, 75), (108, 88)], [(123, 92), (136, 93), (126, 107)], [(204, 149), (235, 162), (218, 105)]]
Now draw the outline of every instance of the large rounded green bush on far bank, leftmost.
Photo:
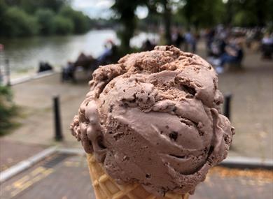
[(3, 30), (6, 36), (29, 36), (38, 33), (36, 17), (17, 7), (10, 7), (4, 14)]

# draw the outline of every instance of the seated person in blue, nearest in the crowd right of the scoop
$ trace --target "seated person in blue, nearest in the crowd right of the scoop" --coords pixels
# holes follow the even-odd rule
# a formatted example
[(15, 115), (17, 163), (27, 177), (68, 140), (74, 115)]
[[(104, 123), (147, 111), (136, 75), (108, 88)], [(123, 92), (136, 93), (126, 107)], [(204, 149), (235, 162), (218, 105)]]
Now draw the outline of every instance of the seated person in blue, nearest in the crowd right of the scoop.
[(243, 57), (244, 51), (241, 41), (239, 39), (231, 40), (225, 47), (225, 53), (220, 57), (216, 72), (223, 73), (225, 64), (241, 64)]

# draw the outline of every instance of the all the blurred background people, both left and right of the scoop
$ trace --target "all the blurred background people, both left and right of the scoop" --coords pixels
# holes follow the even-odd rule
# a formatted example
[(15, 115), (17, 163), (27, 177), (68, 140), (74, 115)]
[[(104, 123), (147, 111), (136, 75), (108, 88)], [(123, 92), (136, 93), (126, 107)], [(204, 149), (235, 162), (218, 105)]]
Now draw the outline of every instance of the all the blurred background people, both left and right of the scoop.
[[(260, 49), (262, 59), (272, 59), (273, 35), (262, 29), (226, 28), (223, 25), (202, 31), (172, 29), (172, 45), (185, 52), (196, 53), (200, 38), (204, 38), (206, 42), (207, 61), (216, 68), (217, 73), (223, 73), (226, 64), (240, 68), (244, 59), (244, 47)], [(147, 39), (141, 50), (153, 50), (155, 45), (157, 43)], [(62, 80), (75, 81), (74, 73), (78, 66), (94, 70), (98, 66), (113, 63), (118, 47), (112, 40), (106, 40), (104, 47), (104, 52), (97, 59), (80, 53), (75, 62), (68, 61), (62, 69)]]

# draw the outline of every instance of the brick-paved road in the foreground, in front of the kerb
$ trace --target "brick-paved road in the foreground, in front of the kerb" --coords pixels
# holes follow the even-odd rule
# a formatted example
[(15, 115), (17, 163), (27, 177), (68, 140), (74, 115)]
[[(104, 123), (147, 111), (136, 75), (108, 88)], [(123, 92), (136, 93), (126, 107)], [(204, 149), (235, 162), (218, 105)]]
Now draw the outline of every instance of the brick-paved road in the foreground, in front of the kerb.
[[(190, 199), (269, 199), (272, 190), (273, 171), (216, 167)], [(50, 156), (1, 184), (0, 198), (95, 199), (85, 156), (66, 154)]]

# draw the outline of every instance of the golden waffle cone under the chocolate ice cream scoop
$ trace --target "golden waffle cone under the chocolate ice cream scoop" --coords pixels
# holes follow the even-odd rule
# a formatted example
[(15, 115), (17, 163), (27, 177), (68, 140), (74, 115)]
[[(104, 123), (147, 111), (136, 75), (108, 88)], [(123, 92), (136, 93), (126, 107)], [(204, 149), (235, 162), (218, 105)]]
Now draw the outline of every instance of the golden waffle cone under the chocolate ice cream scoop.
[(167, 193), (165, 197), (148, 193), (140, 184), (117, 184), (104, 172), (92, 154), (87, 154), (87, 162), (92, 180), (92, 186), (97, 199), (188, 199), (186, 195)]

